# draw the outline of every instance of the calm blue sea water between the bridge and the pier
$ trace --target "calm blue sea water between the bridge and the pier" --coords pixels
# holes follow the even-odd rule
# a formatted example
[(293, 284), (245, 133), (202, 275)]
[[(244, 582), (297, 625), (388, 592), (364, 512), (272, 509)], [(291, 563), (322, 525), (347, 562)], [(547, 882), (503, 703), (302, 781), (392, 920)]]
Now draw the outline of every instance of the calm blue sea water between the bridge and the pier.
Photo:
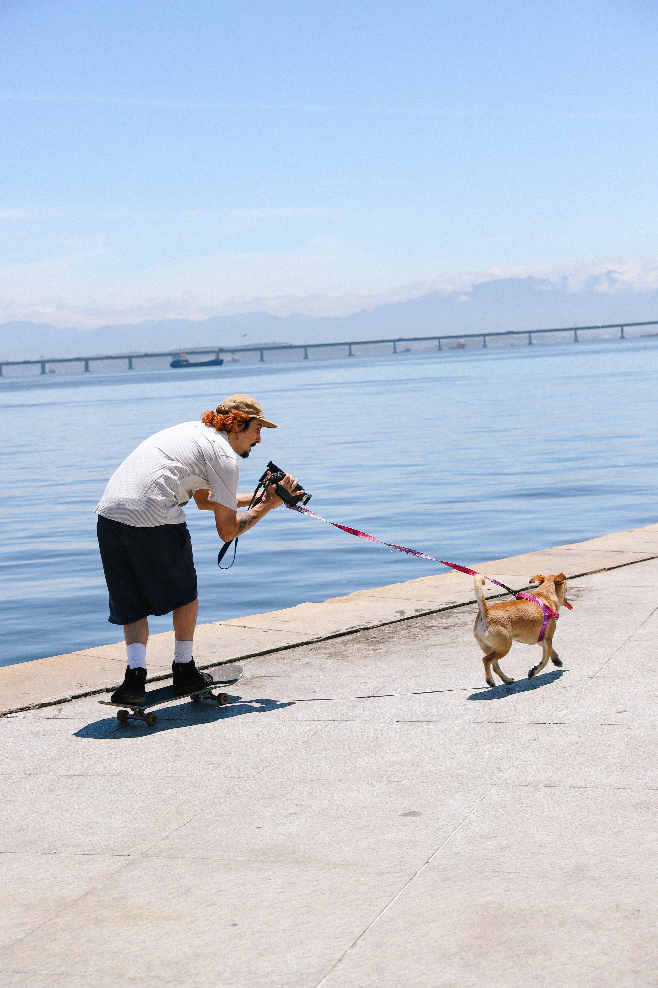
[[(6, 378), (0, 664), (120, 639), (93, 508), (145, 437), (232, 392), (279, 423), (241, 490), (272, 458), (325, 518), (468, 565), (658, 521), (656, 371), (658, 340), (633, 340)], [(200, 621), (443, 571), (282, 507), (222, 573), (212, 515), (187, 515)]]

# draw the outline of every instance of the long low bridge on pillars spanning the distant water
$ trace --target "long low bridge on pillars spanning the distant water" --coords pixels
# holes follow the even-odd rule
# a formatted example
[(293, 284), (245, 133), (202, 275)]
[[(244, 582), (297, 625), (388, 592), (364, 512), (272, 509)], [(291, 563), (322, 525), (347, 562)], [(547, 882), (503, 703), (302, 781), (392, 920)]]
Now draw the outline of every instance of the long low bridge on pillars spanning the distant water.
[[(534, 343), (533, 337), (541, 336), (546, 333), (573, 333), (573, 342), (578, 343), (578, 334), (585, 332), (587, 330), (603, 330), (603, 329), (617, 329), (619, 331), (618, 339), (626, 339), (625, 330), (632, 329), (640, 326), (658, 326), (658, 319), (654, 319), (650, 322), (612, 322), (605, 325), (599, 324), (594, 326), (561, 326), (553, 329), (509, 329), (507, 331), (496, 331), (496, 332), (483, 332), (483, 333), (458, 333), (447, 335), (445, 333), (433, 334), (431, 336), (398, 336), (391, 339), (383, 340), (347, 340), (339, 343), (285, 343), (285, 344), (272, 344), (271, 346), (257, 346), (257, 347), (212, 347), (208, 350), (190, 350), (189, 353), (194, 353), (195, 356), (202, 356), (204, 354), (214, 354), (217, 358), (221, 354), (226, 354), (228, 356), (234, 356), (235, 354), (249, 354), (249, 353), (259, 353), (260, 361), (265, 362), (265, 354), (272, 351), (301, 351), (303, 350), (304, 360), (308, 360), (309, 350), (328, 350), (332, 348), (345, 349), (347, 348), (348, 357), (356, 357), (357, 354), (354, 353), (355, 347), (371, 347), (380, 344), (390, 344), (392, 346), (392, 353), (397, 354), (400, 351), (397, 349), (400, 344), (409, 343), (436, 343), (437, 350), (446, 349), (443, 345), (445, 343), (451, 343), (456, 340), (457, 343), (466, 340), (482, 340), (482, 346), (486, 348), (487, 340), (505, 337), (509, 339), (511, 337), (527, 337), (528, 345), (532, 346)], [(658, 336), (658, 333), (649, 333), (648, 336)], [(455, 349), (454, 346), (450, 349)], [(132, 371), (134, 369), (134, 361), (143, 360), (147, 357), (179, 357), (180, 350), (162, 350), (154, 353), (143, 353), (143, 354), (108, 354), (106, 356), (94, 355), (92, 357), (62, 357), (62, 358), (40, 358), (35, 361), (0, 361), (0, 377), (3, 376), (3, 368), (6, 367), (27, 367), (31, 364), (41, 364), (41, 373), (47, 373), (46, 365), (52, 364), (84, 364), (84, 370), (90, 371), (91, 365), (97, 362), (104, 361), (127, 361), (127, 370)]]

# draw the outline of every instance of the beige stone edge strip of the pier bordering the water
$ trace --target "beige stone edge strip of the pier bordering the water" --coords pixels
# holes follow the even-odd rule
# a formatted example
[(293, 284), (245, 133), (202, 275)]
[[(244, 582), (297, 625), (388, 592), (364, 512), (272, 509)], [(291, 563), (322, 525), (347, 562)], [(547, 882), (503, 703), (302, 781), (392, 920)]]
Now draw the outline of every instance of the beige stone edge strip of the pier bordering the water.
[[(537, 573), (564, 572), (569, 580), (658, 558), (658, 524), (583, 542), (477, 563), (474, 569), (515, 590), (528, 589)], [(491, 590), (492, 584), (488, 584)], [(497, 589), (497, 588), (496, 588)], [(499, 593), (487, 594), (496, 599)], [(373, 627), (439, 614), (475, 604), (472, 577), (451, 571), (404, 583), (305, 603), (283, 611), (200, 624), (195, 660), (202, 669), (288, 651), (357, 634)], [(149, 638), (147, 682), (171, 678), (174, 632)], [(122, 641), (0, 668), (0, 715), (109, 693), (123, 681)]]

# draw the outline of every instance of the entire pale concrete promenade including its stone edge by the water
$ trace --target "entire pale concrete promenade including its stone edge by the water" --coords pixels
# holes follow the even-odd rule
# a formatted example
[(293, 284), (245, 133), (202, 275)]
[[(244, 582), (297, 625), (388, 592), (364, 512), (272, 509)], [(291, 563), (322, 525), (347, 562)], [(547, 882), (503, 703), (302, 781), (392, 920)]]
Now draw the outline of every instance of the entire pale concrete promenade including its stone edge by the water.
[(656, 557), (651, 526), (481, 564), (571, 579), (563, 668), (515, 644), (511, 687), (458, 574), (205, 625), (232, 702), (154, 728), (68, 699), (120, 646), (0, 670), (3, 986), (658, 985)]

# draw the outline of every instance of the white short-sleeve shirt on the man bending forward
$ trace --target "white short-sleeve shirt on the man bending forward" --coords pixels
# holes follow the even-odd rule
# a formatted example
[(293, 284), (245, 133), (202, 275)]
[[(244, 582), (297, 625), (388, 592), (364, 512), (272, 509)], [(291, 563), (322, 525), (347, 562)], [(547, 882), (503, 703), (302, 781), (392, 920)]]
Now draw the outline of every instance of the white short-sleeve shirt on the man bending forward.
[(237, 508), (240, 467), (225, 432), (203, 422), (163, 429), (130, 453), (113, 473), (94, 511), (138, 529), (180, 525), (181, 505), (196, 490), (210, 489), (210, 500)]

